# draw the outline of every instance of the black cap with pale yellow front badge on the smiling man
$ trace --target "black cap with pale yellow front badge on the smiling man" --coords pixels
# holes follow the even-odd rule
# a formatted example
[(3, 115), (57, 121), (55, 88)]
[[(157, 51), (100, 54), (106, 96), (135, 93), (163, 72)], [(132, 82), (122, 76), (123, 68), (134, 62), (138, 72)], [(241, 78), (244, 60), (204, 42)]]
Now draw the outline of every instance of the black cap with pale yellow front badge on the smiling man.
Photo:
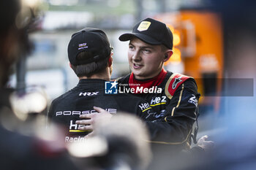
[(135, 25), (132, 33), (122, 34), (119, 40), (122, 42), (129, 41), (132, 36), (141, 39), (149, 45), (165, 45), (168, 49), (173, 49), (173, 34), (165, 23), (152, 18), (141, 20)]

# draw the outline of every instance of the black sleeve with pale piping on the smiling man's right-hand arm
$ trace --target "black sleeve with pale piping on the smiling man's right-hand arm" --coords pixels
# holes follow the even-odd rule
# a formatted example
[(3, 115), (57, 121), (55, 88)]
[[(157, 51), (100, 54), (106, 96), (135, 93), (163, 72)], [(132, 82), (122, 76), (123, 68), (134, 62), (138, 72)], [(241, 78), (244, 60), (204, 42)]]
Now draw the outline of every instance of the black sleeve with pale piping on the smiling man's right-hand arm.
[(148, 117), (146, 124), (154, 143), (184, 144), (189, 140), (192, 125), (197, 118), (197, 101), (200, 94), (193, 81), (184, 82), (174, 93), (159, 119)]

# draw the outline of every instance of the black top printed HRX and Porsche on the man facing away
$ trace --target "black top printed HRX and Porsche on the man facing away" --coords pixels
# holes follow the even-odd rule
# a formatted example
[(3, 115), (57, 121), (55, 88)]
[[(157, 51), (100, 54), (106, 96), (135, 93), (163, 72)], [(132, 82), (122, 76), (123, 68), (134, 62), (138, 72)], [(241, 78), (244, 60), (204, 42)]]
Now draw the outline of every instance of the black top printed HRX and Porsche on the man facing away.
[(48, 119), (61, 123), (67, 129), (65, 142), (78, 142), (84, 140), (83, 136), (89, 132), (78, 130), (75, 121), (80, 120), (82, 114), (96, 112), (94, 106), (106, 109), (111, 114), (122, 111), (141, 115), (141, 112), (149, 109), (149, 104), (141, 101), (141, 98), (128, 94), (105, 94), (105, 80), (83, 79), (75, 88), (53, 100)]

